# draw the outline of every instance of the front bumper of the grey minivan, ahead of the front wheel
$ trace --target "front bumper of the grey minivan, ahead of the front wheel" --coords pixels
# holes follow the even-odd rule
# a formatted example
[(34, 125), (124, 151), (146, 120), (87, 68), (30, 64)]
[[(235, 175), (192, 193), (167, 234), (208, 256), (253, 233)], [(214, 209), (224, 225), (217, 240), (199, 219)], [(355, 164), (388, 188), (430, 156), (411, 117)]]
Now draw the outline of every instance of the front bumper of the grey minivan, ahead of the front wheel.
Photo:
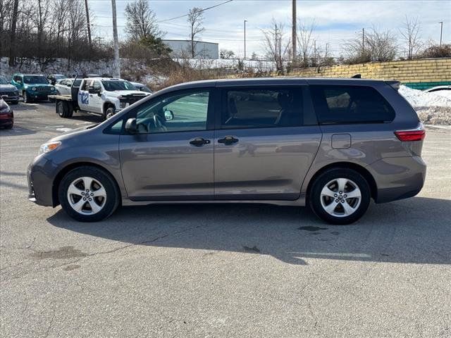
[(43, 155), (37, 156), (27, 168), (28, 199), (39, 206), (54, 206), (54, 166)]

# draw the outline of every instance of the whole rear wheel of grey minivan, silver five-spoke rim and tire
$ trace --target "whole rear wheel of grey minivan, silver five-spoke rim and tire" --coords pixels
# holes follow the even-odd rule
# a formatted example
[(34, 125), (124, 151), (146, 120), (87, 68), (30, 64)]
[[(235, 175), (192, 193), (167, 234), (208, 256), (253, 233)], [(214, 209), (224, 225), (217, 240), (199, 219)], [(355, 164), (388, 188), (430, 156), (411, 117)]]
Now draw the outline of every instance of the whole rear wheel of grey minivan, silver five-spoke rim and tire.
[(332, 168), (314, 181), (309, 196), (311, 209), (328, 223), (344, 225), (364, 215), (371, 199), (365, 178), (357, 171)]

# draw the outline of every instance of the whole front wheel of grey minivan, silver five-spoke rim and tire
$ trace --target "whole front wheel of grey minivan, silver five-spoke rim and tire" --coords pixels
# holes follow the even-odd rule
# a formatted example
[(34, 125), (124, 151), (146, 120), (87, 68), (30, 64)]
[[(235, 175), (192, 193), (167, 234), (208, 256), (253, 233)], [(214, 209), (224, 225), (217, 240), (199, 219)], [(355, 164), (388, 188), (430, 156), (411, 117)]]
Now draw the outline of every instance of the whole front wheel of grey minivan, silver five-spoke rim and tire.
[(96, 222), (116, 210), (120, 194), (111, 175), (99, 168), (83, 166), (63, 177), (58, 198), (70, 217), (81, 222)]

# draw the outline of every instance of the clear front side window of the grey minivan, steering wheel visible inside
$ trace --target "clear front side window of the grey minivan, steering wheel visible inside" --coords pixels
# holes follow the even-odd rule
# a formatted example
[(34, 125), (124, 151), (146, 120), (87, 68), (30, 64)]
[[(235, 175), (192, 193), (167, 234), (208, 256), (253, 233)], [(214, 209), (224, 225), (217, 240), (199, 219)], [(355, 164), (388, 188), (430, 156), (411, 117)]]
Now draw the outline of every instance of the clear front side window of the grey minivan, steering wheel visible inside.
[(187, 132), (206, 130), (209, 90), (179, 92), (143, 104), (136, 113), (137, 132)]

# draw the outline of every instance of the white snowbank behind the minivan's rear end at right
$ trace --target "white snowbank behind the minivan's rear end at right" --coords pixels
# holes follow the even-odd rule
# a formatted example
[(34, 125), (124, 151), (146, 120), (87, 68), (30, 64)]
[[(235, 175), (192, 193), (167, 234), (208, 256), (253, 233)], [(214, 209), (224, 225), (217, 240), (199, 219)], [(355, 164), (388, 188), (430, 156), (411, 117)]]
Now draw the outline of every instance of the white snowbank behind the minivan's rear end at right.
[(429, 125), (451, 125), (451, 97), (406, 86), (401, 86), (399, 92), (414, 107), (421, 122)]

